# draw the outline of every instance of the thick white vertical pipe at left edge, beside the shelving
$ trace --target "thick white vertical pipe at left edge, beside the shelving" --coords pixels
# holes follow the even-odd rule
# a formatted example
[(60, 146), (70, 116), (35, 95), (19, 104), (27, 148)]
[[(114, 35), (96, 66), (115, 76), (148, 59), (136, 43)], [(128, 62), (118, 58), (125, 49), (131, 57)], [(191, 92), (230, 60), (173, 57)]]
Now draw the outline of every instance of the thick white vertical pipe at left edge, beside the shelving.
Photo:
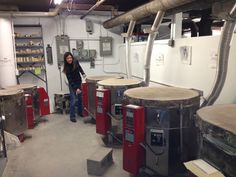
[(16, 85), (16, 68), (11, 20), (0, 18), (0, 88)]

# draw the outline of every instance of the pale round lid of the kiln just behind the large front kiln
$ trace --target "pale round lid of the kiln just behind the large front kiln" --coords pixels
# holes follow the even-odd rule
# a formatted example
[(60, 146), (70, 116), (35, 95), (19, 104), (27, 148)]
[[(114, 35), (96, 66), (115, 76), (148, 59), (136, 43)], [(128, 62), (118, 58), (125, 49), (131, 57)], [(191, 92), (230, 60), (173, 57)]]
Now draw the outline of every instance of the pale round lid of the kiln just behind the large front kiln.
[(139, 85), (142, 81), (135, 79), (106, 79), (98, 82), (98, 85), (102, 86), (130, 86)]

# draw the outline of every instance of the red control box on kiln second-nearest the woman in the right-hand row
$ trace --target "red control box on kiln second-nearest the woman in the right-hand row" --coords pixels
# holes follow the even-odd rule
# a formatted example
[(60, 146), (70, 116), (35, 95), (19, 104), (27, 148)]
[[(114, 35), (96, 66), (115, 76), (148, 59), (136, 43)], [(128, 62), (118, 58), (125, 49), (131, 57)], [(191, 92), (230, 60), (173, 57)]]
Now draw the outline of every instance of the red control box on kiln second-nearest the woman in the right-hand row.
[(107, 135), (107, 131), (111, 129), (111, 118), (107, 115), (110, 112), (110, 90), (96, 90), (96, 132)]

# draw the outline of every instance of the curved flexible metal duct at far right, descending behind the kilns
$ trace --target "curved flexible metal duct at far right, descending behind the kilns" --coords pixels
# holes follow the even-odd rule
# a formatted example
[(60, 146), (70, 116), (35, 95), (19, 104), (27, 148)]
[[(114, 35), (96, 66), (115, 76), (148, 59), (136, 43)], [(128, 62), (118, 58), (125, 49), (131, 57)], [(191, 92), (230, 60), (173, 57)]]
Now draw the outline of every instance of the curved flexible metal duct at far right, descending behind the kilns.
[[(236, 3), (234, 4), (234, 7), (229, 13), (229, 16), (231, 17), (235, 15), (236, 15)], [(225, 22), (225, 25), (221, 34), (221, 40), (220, 40), (219, 65), (218, 65), (219, 69), (217, 73), (217, 79), (216, 79), (216, 82), (215, 82), (215, 85), (211, 94), (203, 102), (202, 107), (214, 104), (214, 102), (219, 97), (223, 89), (225, 79), (227, 76), (230, 43), (233, 37), (235, 24), (236, 24), (235, 19), (227, 20)]]

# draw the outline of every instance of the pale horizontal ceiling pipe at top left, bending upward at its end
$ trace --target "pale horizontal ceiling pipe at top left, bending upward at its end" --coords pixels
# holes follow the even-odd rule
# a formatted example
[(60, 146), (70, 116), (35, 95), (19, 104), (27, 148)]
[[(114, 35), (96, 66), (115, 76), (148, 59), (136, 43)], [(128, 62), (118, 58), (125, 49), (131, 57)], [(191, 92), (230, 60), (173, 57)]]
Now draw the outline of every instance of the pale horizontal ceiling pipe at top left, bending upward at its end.
[(52, 12), (14, 12), (14, 11), (0, 11), (0, 17), (55, 17), (60, 12), (63, 3), (57, 5)]

